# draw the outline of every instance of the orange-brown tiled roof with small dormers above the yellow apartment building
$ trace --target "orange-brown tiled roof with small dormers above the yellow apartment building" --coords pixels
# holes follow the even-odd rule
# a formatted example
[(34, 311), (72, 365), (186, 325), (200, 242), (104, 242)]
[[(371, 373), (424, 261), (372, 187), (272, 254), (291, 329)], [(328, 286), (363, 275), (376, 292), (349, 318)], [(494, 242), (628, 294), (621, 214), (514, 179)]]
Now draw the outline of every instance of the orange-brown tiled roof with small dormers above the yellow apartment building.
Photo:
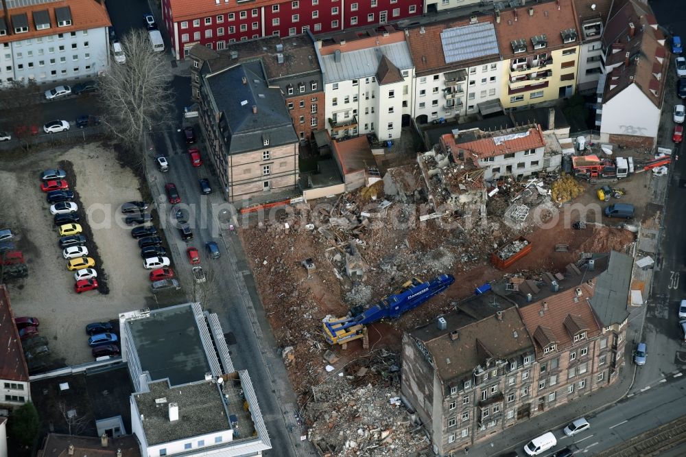
[[(558, 9), (558, 3), (560, 8)], [(530, 15), (529, 11), (534, 14)], [(564, 43), (563, 30), (576, 30), (576, 40)], [(571, 0), (548, 1), (545, 3), (531, 3), (524, 7), (511, 8), (500, 12), (500, 22), (495, 24), (495, 32), (498, 36), (500, 54), (504, 58), (514, 56), (512, 41), (523, 39), (526, 41), (527, 52), (534, 52), (531, 38), (535, 35), (545, 35), (547, 46), (544, 49), (536, 49), (536, 52), (545, 52), (546, 49), (558, 49), (565, 46), (579, 44), (581, 34), (576, 23)]]

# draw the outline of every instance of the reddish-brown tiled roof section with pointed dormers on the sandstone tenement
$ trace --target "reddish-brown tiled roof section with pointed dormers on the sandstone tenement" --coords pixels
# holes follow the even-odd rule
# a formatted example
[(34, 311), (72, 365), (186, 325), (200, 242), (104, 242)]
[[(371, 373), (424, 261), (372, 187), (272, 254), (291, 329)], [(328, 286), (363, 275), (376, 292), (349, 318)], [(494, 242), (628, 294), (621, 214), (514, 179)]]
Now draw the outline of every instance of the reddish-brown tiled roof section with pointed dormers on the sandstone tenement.
[[(550, 342), (557, 342), (558, 351), (571, 347), (573, 336), (580, 331), (587, 332), (587, 339), (600, 335), (600, 324), (589, 303), (592, 296), (593, 285), (582, 283), (578, 288), (559, 292), (543, 301), (519, 308), (527, 331), (534, 335), (538, 355), (543, 353), (543, 348)], [(540, 330), (544, 327), (547, 327), (545, 338)], [(542, 342), (547, 342), (546, 346)]]

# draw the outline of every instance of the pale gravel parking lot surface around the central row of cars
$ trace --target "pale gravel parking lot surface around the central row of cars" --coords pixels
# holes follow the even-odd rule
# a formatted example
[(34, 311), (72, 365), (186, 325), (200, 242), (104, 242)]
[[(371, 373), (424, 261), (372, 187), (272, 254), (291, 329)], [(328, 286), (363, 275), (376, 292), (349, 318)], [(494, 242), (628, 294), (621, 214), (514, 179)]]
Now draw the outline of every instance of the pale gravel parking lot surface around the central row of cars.
[[(73, 272), (67, 270), (50, 205), (40, 191), (40, 172), (58, 167), (60, 161), (73, 165), (76, 185), (74, 176), (68, 174), (66, 180), (88, 215), (80, 223), (91, 226), (102, 259), (95, 269), (98, 279), (106, 280), (108, 294), (73, 290)], [(141, 200), (139, 182), (130, 169), (117, 163), (113, 150), (97, 143), (5, 160), (0, 179), (5, 206), (2, 223), (16, 234), (17, 248), (23, 250), (29, 267), (27, 279), (8, 281), (14, 314), (40, 320), (40, 335), (48, 338), (54, 357), (70, 365), (89, 362), (93, 358), (86, 344), (87, 323), (116, 319), (119, 312), (156, 304), (137, 242), (130, 228), (115, 222), (115, 215), (121, 216), (121, 203)]]

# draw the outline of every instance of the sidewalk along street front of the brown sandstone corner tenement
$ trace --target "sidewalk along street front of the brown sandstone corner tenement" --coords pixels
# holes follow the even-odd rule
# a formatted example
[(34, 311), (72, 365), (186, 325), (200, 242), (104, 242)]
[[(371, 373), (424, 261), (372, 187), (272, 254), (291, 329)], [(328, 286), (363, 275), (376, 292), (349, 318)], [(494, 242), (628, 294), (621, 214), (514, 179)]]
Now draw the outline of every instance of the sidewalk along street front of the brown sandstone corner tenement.
[[(512, 449), (521, 451), (520, 448), (532, 438), (536, 438), (536, 436), (540, 436), (545, 432), (561, 430), (565, 425), (578, 417), (590, 419), (601, 410), (609, 408), (623, 399), (631, 388), (634, 375), (635, 366), (631, 362), (631, 351), (625, 351), (624, 366), (619, 371), (619, 379), (617, 379), (615, 384), (597, 390), (571, 403), (558, 406), (554, 410), (536, 416), (533, 419), (514, 425), (514, 427), (508, 430), (493, 435), (491, 440), (470, 446), (469, 456), (493, 457)], [(460, 452), (456, 455), (459, 456)]]

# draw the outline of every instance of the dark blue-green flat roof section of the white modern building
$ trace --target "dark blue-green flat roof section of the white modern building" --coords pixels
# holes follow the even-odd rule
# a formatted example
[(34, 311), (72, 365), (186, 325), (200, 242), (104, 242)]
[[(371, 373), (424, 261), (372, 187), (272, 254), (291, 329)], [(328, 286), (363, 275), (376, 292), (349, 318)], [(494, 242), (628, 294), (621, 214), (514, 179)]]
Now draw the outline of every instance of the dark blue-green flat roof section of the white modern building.
[(211, 369), (193, 309), (164, 311), (128, 322), (142, 371), (153, 380), (169, 378), (171, 386), (203, 380)]

